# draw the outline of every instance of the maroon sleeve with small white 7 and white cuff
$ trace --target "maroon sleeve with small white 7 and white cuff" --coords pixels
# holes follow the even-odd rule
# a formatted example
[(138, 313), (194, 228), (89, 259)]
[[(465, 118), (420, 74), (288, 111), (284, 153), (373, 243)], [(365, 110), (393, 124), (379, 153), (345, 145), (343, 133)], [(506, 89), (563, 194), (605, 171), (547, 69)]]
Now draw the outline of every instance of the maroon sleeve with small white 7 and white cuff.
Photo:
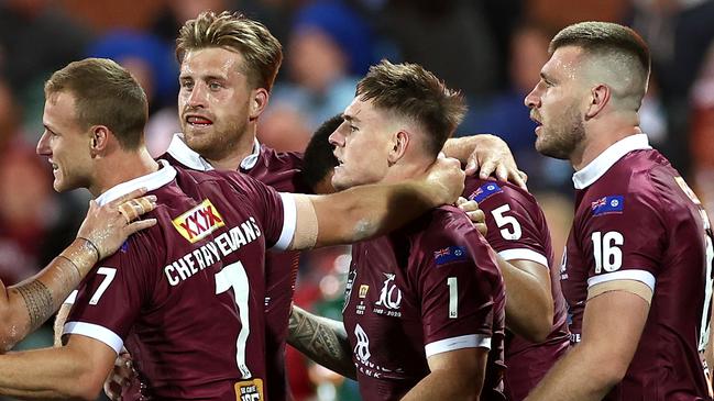
[(119, 353), (153, 292), (153, 274), (161, 270), (155, 254), (147, 233), (138, 233), (97, 264), (77, 289), (64, 334), (95, 338)]

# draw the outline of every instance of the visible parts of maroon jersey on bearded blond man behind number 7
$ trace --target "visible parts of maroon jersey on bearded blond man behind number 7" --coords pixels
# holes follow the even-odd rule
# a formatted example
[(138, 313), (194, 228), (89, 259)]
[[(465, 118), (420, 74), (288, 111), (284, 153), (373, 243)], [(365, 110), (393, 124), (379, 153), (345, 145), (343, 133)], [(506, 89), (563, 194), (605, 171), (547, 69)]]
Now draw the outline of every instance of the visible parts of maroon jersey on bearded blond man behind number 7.
[[(211, 170), (211, 165), (198, 153), (191, 151), (175, 135), (166, 154), (160, 158), (171, 164), (195, 170)], [(297, 153), (277, 153), (255, 142), (253, 153), (240, 165), (240, 171), (275, 188), (281, 192), (311, 193), (312, 190), (303, 182), (300, 171), (303, 157)], [(265, 258), (265, 319), (267, 324), (267, 381), (271, 399), (279, 401), (289, 399), (285, 375), (285, 341), (287, 322), (295, 293), (295, 280), (299, 253), (272, 253)], [(290, 270), (286, 270), (290, 267)]]

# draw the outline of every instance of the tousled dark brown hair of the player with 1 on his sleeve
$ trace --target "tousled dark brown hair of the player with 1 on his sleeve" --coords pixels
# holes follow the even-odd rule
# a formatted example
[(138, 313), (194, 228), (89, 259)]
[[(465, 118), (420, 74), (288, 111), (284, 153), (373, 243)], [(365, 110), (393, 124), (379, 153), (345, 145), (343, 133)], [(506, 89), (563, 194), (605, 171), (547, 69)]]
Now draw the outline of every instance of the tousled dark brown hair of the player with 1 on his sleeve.
[(463, 120), (466, 104), (461, 92), (418, 64), (382, 60), (370, 67), (356, 96), (381, 109), (414, 119), (429, 134), (426, 149), (436, 156)]

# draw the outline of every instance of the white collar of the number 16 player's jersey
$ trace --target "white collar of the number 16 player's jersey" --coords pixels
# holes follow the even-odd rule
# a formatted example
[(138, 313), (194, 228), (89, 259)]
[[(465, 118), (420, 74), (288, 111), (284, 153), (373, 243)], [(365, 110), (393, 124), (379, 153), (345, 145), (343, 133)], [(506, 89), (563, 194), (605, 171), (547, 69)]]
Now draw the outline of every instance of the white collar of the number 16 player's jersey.
[(590, 161), (587, 166), (575, 171), (573, 174), (573, 185), (575, 189), (590, 187), (626, 154), (633, 151), (651, 148), (646, 134), (634, 134), (622, 138)]

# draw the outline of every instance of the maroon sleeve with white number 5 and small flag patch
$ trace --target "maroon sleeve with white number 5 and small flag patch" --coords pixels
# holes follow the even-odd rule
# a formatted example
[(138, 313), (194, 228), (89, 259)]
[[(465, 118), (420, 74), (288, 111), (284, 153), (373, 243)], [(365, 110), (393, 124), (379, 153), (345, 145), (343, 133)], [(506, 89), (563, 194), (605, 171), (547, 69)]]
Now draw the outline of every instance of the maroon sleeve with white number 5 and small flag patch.
[[(483, 182), (483, 181), (482, 181)], [(501, 182), (485, 181), (470, 197), (486, 215), (486, 241), (505, 260), (525, 259), (548, 266), (540, 208)]]

